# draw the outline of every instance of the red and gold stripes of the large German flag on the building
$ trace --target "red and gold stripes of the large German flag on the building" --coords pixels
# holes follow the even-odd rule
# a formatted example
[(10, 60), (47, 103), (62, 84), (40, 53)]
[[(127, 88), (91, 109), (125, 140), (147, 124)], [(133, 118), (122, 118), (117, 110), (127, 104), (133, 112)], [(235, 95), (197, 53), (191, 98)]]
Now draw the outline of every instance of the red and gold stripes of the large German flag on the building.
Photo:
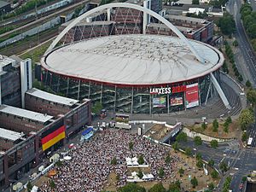
[(43, 151), (45, 151), (47, 148), (50, 148), (53, 146), (55, 143), (58, 143), (61, 141), (61, 139), (65, 138), (65, 125), (62, 125), (60, 128), (57, 130), (49, 133), (46, 137), (42, 138), (42, 148)]

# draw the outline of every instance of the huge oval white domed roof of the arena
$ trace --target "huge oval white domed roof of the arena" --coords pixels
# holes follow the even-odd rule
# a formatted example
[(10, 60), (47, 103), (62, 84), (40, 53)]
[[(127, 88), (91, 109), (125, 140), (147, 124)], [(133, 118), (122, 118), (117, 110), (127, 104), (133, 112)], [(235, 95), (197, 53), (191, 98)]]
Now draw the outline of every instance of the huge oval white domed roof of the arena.
[(111, 84), (168, 84), (195, 79), (222, 66), (223, 55), (208, 44), (189, 40), (206, 60), (201, 63), (179, 38), (121, 35), (92, 38), (55, 49), (43, 67), (73, 78)]

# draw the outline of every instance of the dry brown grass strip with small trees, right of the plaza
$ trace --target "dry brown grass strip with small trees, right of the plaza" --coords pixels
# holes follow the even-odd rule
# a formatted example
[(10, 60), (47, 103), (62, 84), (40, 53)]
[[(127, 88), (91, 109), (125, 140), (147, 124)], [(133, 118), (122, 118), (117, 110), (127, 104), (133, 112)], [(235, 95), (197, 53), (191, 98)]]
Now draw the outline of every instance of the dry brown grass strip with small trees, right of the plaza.
[(224, 131), (224, 121), (218, 122), (218, 131), (213, 132), (212, 124), (207, 124), (207, 129), (203, 130), (201, 124), (195, 124), (186, 126), (189, 130), (200, 132), (204, 135), (217, 137), (217, 138), (234, 138), (237, 135), (237, 131), (240, 131), (239, 122), (237, 120), (233, 120), (233, 122), (229, 125), (229, 131)]

